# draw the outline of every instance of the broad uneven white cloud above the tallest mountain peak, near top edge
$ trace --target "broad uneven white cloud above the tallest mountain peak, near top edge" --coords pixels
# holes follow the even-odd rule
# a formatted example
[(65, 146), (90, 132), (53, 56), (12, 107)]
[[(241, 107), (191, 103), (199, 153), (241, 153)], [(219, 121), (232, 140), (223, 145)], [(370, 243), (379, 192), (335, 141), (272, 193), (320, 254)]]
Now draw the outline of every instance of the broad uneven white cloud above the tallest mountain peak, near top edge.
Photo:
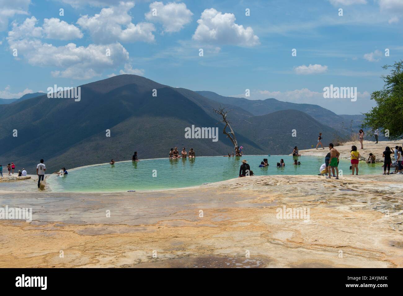
[[(133, 2), (120, 2), (118, 6), (102, 8), (99, 14), (93, 17), (84, 15), (80, 17), (77, 24), (89, 31), (91, 38), (96, 43), (154, 42), (153, 31), (155, 27), (152, 23), (131, 22), (128, 11), (134, 7)], [(124, 29), (122, 28), (125, 27)]]

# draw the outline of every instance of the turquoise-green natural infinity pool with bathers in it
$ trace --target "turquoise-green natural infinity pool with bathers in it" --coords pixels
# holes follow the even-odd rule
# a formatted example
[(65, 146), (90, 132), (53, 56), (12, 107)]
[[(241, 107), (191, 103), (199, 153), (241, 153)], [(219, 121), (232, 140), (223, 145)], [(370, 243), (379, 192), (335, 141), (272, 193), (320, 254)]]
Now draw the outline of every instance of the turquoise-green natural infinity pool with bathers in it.
[[(259, 168), (260, 161), (268, 159), (269, 167)], [(284, 168), (276, 168), (283, 158)], [(127, 191), (156, 190), (196, 186), (236, 178), (241, 160), (246, 159), (255, 175), (317, 175), (324, 157), (295, 157), (300, 166), (293, 165), (292, 156), (247, 155), (243, 157), (196, 157), (186, 159), (149, 159), (138, 162), (124, 161), (111, 166), (102, 164), (69, 171), (68, 176), (56, 175), (47, 179), (54, 191)], [(351, 174), (350, 161), (340, 159), (339, 170)], [(359, 163), (359, 174), (381, 173), (381, 164)], [(156, 170), (156, 177), (153, 177)], [(155, 176), (155, 171), (154, 171)]]

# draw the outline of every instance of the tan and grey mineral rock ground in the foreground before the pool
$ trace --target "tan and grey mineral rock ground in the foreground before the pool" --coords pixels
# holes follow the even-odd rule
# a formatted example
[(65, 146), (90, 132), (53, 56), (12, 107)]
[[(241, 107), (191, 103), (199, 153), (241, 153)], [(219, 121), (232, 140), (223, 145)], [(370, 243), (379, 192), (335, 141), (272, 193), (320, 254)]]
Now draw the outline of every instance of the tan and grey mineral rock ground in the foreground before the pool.
[(0, 220), (0, 267), (403, 267), (402, 181), (253, 176), (114, 194), (2, 188), (0, 206), (31, 207), (33, 219)]

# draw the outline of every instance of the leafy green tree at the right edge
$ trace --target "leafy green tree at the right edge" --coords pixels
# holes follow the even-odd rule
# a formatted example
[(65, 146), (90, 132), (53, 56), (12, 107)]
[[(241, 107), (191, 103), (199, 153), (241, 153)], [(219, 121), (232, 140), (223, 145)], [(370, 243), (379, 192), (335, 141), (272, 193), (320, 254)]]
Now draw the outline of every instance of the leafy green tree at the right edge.
[(376, 107), (364, 113), (362, 127), (372, 130), (380, 128), (382, 132), (389, 130), (391, 140), (403, 137), (403, 60), (394, 65), (384, 65), (382, 68), (391, 68), (389, 75), (382, 75), (385, 85), (382, 90), (374, 91), (371, 99), (376, 101)]

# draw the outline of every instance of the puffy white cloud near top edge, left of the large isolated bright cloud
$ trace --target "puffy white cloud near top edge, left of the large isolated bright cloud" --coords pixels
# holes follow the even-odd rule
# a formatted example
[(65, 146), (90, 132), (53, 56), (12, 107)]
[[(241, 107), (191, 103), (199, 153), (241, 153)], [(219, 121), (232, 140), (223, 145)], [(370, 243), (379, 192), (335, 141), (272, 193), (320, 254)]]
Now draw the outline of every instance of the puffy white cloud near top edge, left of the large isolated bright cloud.
[[(156, 15), (153, 15), (156, 9)], [(193, 13), (186, 8), (185, 3), (169, 2), (164, 5), (162, 2), (150, 4), (150, 11), (145, 14), (145, 18), (152, 22), (162, 23), (164, 32), (172, 33), (183, 29), (183, 26), (190, 23)]]

